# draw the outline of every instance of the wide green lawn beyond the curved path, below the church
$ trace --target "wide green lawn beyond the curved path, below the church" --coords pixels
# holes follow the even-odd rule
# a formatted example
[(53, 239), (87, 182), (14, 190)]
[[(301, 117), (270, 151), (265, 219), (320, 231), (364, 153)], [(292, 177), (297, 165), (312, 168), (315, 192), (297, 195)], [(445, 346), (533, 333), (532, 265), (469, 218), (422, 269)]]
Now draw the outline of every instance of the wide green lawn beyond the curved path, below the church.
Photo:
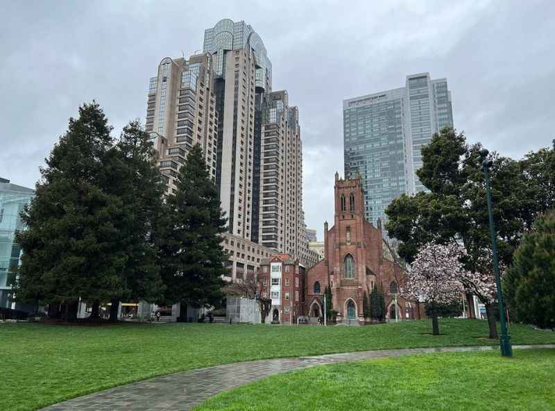
[[(367, 327), (222, 324), (45, 326), (0, 324), (0, 410), (32, 410), (161, 374), (296, 355), (497, 344), (486, 321), (442, 319)], [(511, 325), (513, 344), (555, 343), (555, 333)]]

